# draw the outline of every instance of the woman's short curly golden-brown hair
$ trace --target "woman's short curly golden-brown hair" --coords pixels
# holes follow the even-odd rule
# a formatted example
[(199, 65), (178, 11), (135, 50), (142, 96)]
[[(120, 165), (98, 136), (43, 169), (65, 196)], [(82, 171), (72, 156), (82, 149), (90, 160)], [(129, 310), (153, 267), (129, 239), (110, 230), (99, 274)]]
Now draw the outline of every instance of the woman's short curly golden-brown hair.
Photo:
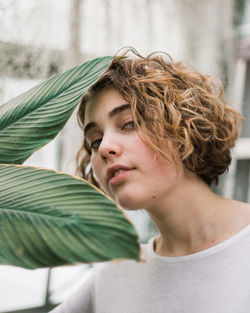
[[(231, 163), (230, 149), (242, 120), (227, 104), (219, 80), (175, 63), (166, 54), (142, 57), (128, 49), (114, 57), (83, 96), (78, 111), (80, 126), (84, 126), (87, 103), (107, 88), (119, 91), (131, 105), (136, 130), (152, 149), (176, 164), (181, 160), (206, 184), (218, 184), (219, 175)], [(90, 154), (84, 140), (77, 155), (78, 172), (98, 186)]]

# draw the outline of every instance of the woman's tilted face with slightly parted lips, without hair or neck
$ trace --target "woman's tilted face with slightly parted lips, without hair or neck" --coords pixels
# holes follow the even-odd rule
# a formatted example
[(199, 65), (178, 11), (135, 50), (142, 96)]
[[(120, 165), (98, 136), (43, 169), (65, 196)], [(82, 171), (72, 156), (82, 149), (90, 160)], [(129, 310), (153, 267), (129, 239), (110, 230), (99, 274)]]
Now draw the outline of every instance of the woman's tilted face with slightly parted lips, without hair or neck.
[(98, 183), (125, 209), (150, 210), (181, 180), (183, 169), (177, 171), (138, 136), (130, 105), (114, 89), (87, 105), (85, 138)]

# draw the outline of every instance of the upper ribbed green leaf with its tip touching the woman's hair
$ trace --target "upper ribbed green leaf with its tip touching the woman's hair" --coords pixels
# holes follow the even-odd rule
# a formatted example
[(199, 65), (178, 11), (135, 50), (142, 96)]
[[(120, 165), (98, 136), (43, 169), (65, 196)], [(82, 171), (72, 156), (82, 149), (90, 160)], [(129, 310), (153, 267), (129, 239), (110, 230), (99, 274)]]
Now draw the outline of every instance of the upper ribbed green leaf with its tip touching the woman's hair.
[(111, 60), (88, 61), (0, 106), (0, 163), (21, 164), (53, 139)]

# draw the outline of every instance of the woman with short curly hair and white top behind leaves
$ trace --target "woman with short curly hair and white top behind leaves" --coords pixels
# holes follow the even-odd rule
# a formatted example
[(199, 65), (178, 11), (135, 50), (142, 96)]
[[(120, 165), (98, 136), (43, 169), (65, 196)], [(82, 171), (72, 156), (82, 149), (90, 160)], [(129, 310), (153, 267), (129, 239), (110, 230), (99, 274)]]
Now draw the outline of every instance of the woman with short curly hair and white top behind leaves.
[(250, 206), (210, 186), (230, 164), (240, 115), (211, 77), (164, 56), (116, 57), (84, 95), (84, 178), (159, 236), (145, 263), (107, 262), (54, 313), (250, 310)]

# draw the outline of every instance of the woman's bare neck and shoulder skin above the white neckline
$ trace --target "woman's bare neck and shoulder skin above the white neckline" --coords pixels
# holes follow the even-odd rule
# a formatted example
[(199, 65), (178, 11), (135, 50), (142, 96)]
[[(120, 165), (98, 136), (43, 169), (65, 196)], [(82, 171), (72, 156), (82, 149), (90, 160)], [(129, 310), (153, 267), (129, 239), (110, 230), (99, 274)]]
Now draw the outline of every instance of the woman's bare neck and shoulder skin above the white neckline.
[(214, 194), (195, 176), (181, 182), (148, 212), (160, 231), (156, 253), (166, 256), (207, 249), (250, 223), (249, 205)]

